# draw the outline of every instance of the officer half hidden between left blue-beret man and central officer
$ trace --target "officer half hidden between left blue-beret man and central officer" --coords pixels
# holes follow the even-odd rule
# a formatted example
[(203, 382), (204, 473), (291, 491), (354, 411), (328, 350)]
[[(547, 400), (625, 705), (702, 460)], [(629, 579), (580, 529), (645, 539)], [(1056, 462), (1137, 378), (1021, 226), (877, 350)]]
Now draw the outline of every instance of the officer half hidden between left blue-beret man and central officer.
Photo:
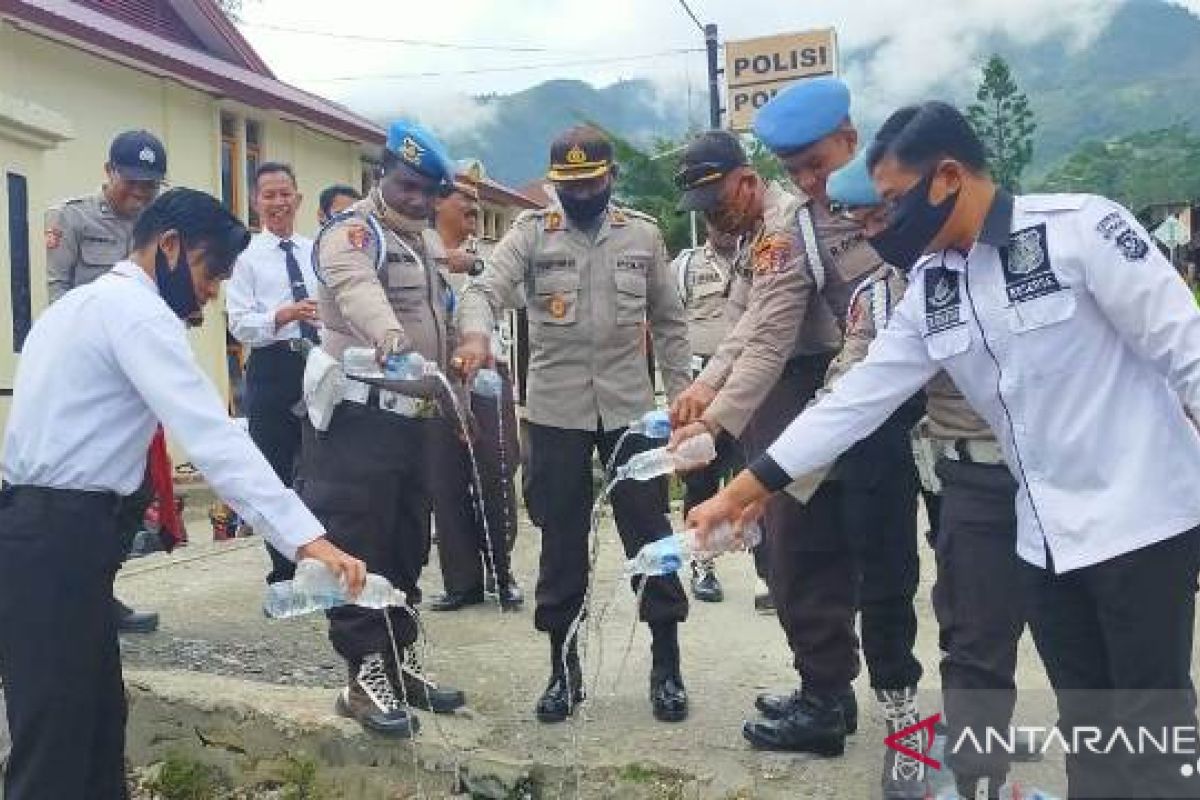
[[(479, 227), (479, 188), (464, 176), (442, 192), (434, 204), (434, 225), (445, 246), (439, 269), (451, 287), (461, 290), (467, 276), (482, 269), (475, 231)], [(516, 541), (517, 500), (514, 475), (520, 463), (512, 385), (506, 365), (498, 398), (470, 393), (473, 453), (481, 487), (474, 483), (470, 452), (457, 440), (458, 431), (443, 432), (431, 447), (433, 512), (438, 531), (438, 563), (445, 591), (430, 603), (433, 610), (458, 610), (484, 602), (486, 584), (496, 590), (500, 607), (524, 602), (512, 577), (509, 555)], [(499, 415), (504, 414), (500, 422)], [(504, 434), (503, 438), (500, 434)], [(476, 499), (482, 488), (484, 497)], [(482, 516), (479, 505), (482, 504)]]

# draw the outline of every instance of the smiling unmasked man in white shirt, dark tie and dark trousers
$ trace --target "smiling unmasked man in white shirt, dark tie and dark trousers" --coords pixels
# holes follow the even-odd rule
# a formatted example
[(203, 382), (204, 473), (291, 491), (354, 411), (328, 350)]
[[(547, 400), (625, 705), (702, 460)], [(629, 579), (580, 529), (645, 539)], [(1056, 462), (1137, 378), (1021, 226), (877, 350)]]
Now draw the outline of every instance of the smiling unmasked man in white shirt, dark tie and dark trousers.
[[(275, 474), (292, 486), (300, 455), (301, 419), (294, 411), (304, 380), (302, 342), (318, 339), (317, 277), (312, 240), (295, 233), (301, 194), (288, 164), (266, 162), (254, 173), (254, 210), (263, 230), (250, 240), (226, 287), (229, 332), (251, 349), (246, 362), (250, 438)], [(288, 581), (294, 565), (269, 543), (268, 583)]]

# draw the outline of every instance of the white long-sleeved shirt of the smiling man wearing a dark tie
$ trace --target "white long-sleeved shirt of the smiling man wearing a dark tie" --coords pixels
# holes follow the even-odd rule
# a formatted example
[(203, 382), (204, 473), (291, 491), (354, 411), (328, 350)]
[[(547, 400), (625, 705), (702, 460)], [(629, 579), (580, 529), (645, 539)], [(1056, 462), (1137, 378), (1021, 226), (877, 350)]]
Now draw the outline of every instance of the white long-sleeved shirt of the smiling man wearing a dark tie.
[[(275, 330), (275, 312), (295, 302), (281, 241), (283, 240), (270, 230), (254, 234), (226, 283), (229, 332), (252, 348), (300, 338), (300, 323), (288, 323)], [(295, 243), (292, 254), (300, 265), (308, 296), (316, 300), (317, 275), (312, 271), (312, 240), (292, 236), (292, 241)]]

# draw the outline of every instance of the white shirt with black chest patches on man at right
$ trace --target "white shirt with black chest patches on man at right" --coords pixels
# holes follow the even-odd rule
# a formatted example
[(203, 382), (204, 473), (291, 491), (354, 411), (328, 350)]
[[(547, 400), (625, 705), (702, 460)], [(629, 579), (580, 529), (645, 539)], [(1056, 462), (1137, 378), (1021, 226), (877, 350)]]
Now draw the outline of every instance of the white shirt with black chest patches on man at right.
[(997, 196), (966, 257), (917, 263), (866, 360), (756, 474), (830, 463), (946, 369), (1019, 482), (1018, 554), (1044, 567), (1049, 548), (1066, 572), (1200, 524), (1200, 435), (1184, 415), (1200, 411), (1200, 309), (1115, 203), (1010, 204)]

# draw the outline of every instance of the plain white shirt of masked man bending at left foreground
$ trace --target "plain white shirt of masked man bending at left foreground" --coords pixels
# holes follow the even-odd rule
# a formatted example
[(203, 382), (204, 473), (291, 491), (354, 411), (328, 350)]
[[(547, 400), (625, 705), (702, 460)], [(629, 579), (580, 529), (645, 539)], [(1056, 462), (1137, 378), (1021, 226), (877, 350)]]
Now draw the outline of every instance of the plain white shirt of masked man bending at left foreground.
[(13, 485), (127, 495), (142, 483), (158, 420), (216, 493), (288, 558), (323, 535), (226, 414), (184, 324), (131, 261), (68, 291), (34, 324), (0, 471)]

